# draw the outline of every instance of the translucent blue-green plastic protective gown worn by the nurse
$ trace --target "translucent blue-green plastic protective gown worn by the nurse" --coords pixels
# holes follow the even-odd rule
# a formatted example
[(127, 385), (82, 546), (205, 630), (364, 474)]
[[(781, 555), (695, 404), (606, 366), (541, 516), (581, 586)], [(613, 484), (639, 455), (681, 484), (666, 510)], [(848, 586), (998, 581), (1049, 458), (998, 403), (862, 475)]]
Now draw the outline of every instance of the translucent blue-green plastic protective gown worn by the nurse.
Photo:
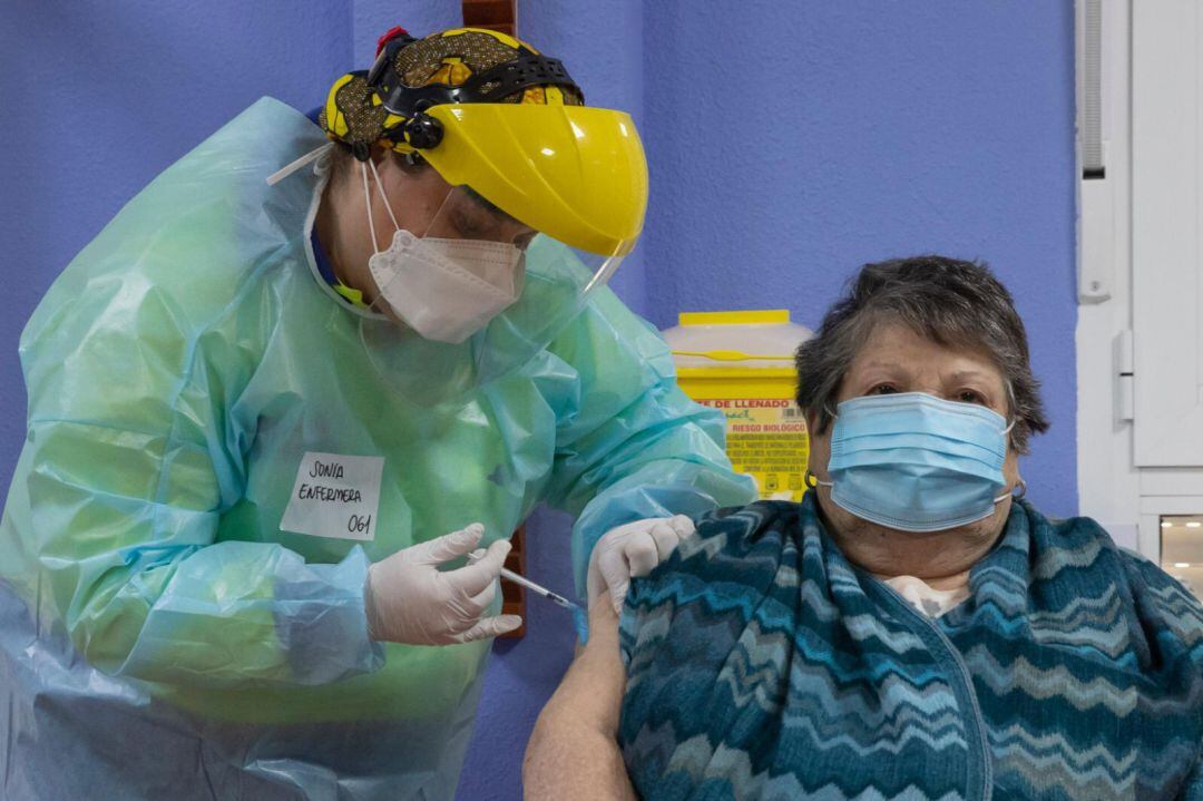
[[(450, 799), (488, 642), (372, 642), (371, 562), (474, 521), (508, 536), (547, 502), (579, 516), (580, 587), (610, 527), (753, 497), (722, 419), (609, 290), (476, 384), (520, 325), (456, 350), (345, 304), (309, 245), (324, 168), (265, 183), (322, 142), (259, 101), (135, 197), (24, 331), (5, 799)], [(556, 259), (528, 255), (532, 291)], [(413, 400), (443, 380), (468, 388)], [(372, 524), (284, 530), (330, 457), (374, 470), (352, 487)]]

